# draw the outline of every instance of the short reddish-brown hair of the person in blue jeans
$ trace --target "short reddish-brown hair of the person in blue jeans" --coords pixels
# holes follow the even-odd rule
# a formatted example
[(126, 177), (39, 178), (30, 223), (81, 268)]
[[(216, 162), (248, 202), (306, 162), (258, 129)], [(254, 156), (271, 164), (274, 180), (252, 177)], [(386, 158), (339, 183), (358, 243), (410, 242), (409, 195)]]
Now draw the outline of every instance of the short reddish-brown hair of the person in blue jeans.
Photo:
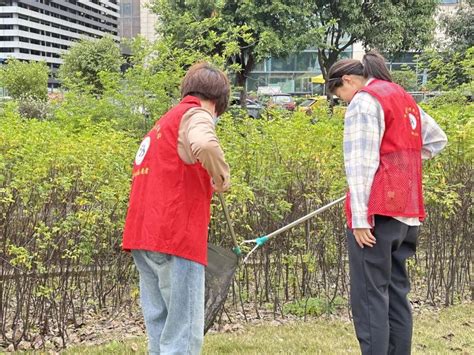
[(219, 116), (229, 105), (229, 79), (222, 70), (207, 62), (194, 64), (181, 83), (181, 97), (187, 95), (213, 101)]

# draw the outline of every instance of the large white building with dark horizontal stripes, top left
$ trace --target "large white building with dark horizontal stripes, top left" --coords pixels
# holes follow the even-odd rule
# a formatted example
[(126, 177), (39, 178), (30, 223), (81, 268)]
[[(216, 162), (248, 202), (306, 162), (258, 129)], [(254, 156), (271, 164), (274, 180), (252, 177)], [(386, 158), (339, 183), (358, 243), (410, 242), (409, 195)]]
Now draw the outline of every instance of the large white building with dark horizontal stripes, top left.
[(118, 0), (0, 0), (0, 61), (44, 60), (55, 71), (81, 38), (118, 40), (119, 15)]

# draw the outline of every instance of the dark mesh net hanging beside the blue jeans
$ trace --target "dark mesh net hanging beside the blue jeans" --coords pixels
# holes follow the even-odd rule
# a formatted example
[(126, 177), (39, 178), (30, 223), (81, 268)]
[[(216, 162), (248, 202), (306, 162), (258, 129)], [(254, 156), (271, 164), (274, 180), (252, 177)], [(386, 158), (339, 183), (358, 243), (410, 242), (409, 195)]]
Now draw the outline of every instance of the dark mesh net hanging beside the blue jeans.
[(217, 245), (208, 245), (207, 258), (204, 334), (224, 306), (238, 265), (238, 258), (232, 251)]

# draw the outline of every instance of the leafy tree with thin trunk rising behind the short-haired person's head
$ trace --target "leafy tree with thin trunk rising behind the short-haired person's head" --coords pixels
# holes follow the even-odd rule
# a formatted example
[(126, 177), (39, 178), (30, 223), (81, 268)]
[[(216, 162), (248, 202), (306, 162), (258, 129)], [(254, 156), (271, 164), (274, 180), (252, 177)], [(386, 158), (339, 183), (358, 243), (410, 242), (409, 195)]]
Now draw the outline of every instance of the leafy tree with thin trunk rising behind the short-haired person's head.
[(159, 32), (177, 46), (225, 58), (242, 103), (255, 65), (301, 48), (311, 24), (311, 3), (304, 0), (155, 0), (152, 9), (160, 17)]

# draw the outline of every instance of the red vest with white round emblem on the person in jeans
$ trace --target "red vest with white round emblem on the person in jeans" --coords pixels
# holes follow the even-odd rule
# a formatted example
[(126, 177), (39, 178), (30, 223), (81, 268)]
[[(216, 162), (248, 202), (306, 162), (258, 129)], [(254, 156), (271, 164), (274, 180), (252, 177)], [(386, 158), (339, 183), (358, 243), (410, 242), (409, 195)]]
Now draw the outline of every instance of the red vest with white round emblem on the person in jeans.
[(199, 107), (186, 96), (143, 139), (133, 164), (124, 250), (176, 255), (207, 265), (211, 178), (200, 163), (178, 155), (178, 130), (186, 111)]

